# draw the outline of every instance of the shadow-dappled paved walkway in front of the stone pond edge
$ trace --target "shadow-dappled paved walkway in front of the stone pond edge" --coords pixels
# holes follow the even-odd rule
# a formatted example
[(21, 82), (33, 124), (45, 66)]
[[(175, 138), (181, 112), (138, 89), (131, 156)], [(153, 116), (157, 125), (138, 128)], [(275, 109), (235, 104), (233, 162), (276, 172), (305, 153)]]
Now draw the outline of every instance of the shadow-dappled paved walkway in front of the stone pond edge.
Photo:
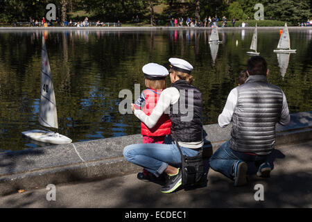
[[(56, 185), (55, 201), (46, 200), (46, 189), (2, 196), (0, 207), (312, 207), (311, 148), (312, 141), (278, 146), (271, 178), (250, 176), (245, 187), (233, 187), (231, 180), (209, 170), (207, 187), (162, 194), (159, 184), (137, 180), (135, 173)], [(257, 184), (264, 187), (263, 201), (254, 200)]]

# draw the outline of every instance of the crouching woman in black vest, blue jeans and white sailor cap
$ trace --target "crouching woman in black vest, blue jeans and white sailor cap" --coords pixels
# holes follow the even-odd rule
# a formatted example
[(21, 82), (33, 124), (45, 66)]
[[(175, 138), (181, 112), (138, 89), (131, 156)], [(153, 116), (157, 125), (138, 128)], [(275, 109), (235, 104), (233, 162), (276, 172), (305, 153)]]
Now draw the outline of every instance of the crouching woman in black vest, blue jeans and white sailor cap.
[[(178, 142), (183, 155), (198, 155), (202, 147), (202, 96), (200, 91), (191, 85), (192, 65), (179, 59), (169, 59), (171, 63), (171, 87), (164, 89), (157, 105), (150, 116), (141, 110), (132, 110), (135, 115), (153, 128), (163, 113), (171, 119), (171, 137)], [(161, 188), (163, 193), (171, 193), (182, 184), (181, 155), (175, 142), (171, 144), (132, 144), (123, 150), (125, 159), (137, 164), (159, 177), (168, 175), (168, 182)]]

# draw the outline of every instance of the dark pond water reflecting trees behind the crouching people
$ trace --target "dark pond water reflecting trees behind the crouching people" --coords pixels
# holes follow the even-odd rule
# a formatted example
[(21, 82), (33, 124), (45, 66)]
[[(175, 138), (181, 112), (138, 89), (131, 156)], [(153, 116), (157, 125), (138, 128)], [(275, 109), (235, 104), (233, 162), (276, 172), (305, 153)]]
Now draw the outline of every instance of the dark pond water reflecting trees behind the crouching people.
[[(42, 146), (21, 135), (41, 129), (38, 122), (42, 31), (0, 33), (0, 151)], [(145, 89), (141, 68), (168, 58), (188, 60), (194, 85), (202, 92), (204, 124), (217, 123), (239, 71), (250, 58), (252, 29), (222, 30), (223, 44), (211, 49), (211, 30), (49, 31), (49, 54), (59, 133), (73, 142), (140, 133), (133, 114), (120, 114), (121, 89)], [(292, 113), (312, 110), (312, 30), (290, 30), (291, 48), (277, 59), (279, 30), (258, 31), (258, 51), (268, 61), (268, 81), (283, 89)], [(288, 65), (286, 64), (288, 60)], [(283, 68), (281, 68), (284, 66)], [(168, 80), (168, 84), (169, 80)], [(135, 99), (135, 98), (133, 98)]]

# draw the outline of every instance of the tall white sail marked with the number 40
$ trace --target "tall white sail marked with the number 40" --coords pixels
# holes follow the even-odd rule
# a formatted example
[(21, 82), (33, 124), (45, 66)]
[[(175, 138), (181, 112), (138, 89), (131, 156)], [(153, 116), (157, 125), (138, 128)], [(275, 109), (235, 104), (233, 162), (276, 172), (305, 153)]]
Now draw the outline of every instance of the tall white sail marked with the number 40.
[(46, 43), (42, 36), (41, 57), (41, 85), (40, 85), (40, 113), (39, 122), (42, 126), (58, 128), (58, 114), (56, 111), (55, 94), (52, 82)]

